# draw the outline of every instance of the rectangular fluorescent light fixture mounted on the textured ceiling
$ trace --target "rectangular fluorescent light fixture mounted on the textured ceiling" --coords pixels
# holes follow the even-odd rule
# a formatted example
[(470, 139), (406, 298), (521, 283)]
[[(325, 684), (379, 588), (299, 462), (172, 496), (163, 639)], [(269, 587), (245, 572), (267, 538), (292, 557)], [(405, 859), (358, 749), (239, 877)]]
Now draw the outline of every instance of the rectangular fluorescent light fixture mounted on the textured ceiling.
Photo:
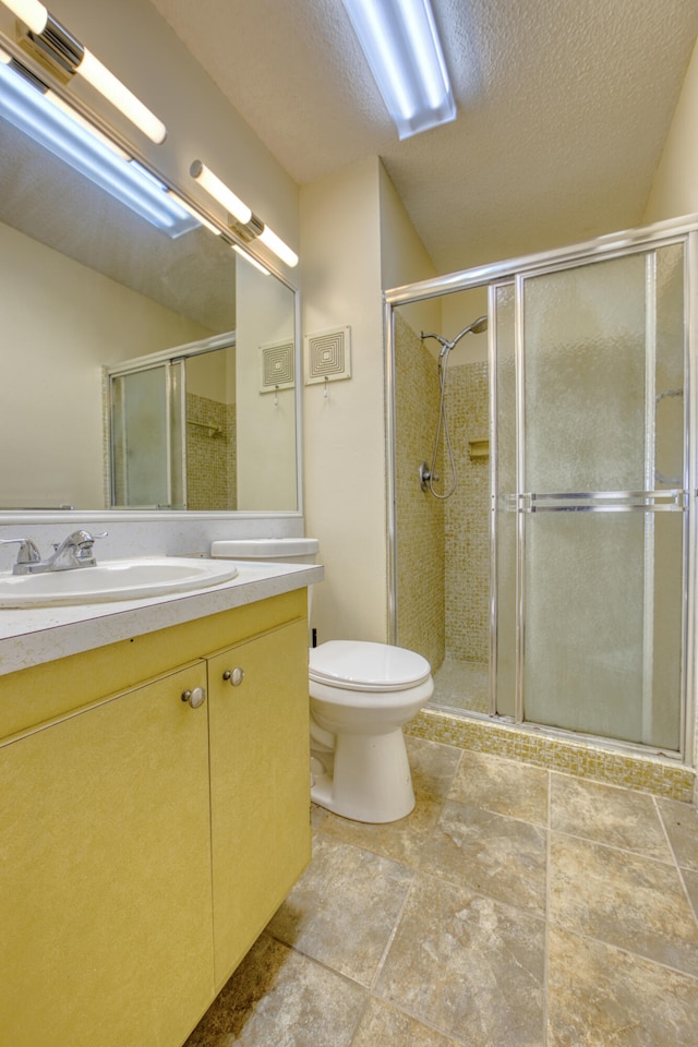
[(430, 0), (342, 0), (400, 139), (456, 119)]

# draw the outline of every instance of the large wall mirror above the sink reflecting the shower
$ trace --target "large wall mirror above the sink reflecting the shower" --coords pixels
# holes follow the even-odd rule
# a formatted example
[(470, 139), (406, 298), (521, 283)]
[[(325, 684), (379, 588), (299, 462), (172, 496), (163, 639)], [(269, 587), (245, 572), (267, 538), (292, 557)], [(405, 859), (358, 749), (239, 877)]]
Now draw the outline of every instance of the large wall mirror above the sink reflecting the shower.
[(0, 98), (0, 512), (297, 512), (293, 289), (5, 117)]

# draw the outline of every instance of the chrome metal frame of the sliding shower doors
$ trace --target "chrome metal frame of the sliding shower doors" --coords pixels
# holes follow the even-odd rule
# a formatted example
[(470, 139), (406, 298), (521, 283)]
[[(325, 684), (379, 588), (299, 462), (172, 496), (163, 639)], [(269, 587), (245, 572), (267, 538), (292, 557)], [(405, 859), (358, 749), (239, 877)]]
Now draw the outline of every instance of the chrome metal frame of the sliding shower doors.
[[(684, 592), (683, 592), (683, 671), (682, 671), (682, 721), (681, 721), (681, 749), (678, 753), (669, 753), (677, 758), (684, 758), (689, 762), (695, 760), (696, 731), (695, 731), (695, 693), (697, 684), (697, 664), (696, 664), (696, 629), (698, 622), (696, 618), (696, 595), (697, 595), (697, 552), (698, 543), (698, 524), (696, 514), (696, 500), (698, 497), (698, 461), (697, 461), (697, 441), (698, 429), (696, 423), (696, 413), (694, 405), (698, 405), (698, 377), (696, 374), (696, 346), (698, 345), (698, 216), (688, 216), (681, 219), (658, 222), (646, 228), (638, 228), (623, 231), (613, 236), (602, 237), (597, 240), (587, 241), (580, 244), (574, 244), (565, 249), (542, 252), (540, 254), (527, 255), (519, 258), (507, 260), (493, 265), (481, 266), (472, 269), (453, 273), (433, 280), (425, 280), (419, 284), (407, 285), (394, 288), (385, 292), (385, 332), (386, 332), (386, 424), (387, 424), (387, 476), (388, 476), (388, 625), (392, 642), (397, 640), (397, 614), (398, 614), (398, 593), (397, 593), (397, 493), (395, 483), (396, 468), (396, 447), (395, 447), (395, 337), (394, 337), (394, 311), (400, 305), (425, 301), (428, 299), (441, 298), (452, 292), (462, 291), (476, 287), (486, 286), (490, 289), (490, 330), (489, 330), (489, 354), (490, 354), (490, 396), (491, 396), (491, 445), (497, 446), (497, 412), (496, 412), (496, 322), (495, 312), (492, 308), (493, 298), (497, 287), (508, 284), (517, 284), (533, 275), (553, 273), (565, 268), (573, 268), (583, 263), (594, 261), (606, 261), (614, 257), (622, 257), (628, 254), (647, 253), (659, 246), (671, 243), (682, 242), (685, 244), (685, 476), (684, 486), (674, 490), (655, 491), (654, 484), (649, 483), (649, 477), (646, 477), (646, 491), (642, 492), (613, 492), (619, 494), (617, 505), (611, 506), (607, 501), (609, 492), (582, 493), (586, 503), (579, 502), (575, 506), (576, 510), (586, 512), (624, 512), (637, 513), (643, 512), (650, 515), (655, 512), (676, 512), (682, 510), (687, 514), (687, 526), (684, 528)], [(651, 281), (651, 274), (648, 273)], [(649, 296), (651, 298), (651, 296)], [(516, 309), (522, 311), (522, 296), (517, 294)], [(521, 362), (524, 358), (522, 346), (522, 312), (516, 316), (516, 356), (517, 356), (517, 400), (520, 417), (517, 425), (524, 424), (524, 373)], [(652, 325), (652, 317), (648, 316), (648, 326)], [(650, 353), (651, 356), (651, 353)], [(647, 362), (648, 370), (653, 368), (652, 360)], [(653, 377), (652, 377), (653, 381)], [(649, 405), (649, 396), (647, 398)], [(649, 409), (649, 407), (648, 407)], [(651, 426), (646, 425), (646, 432), (649, 433)], [(518, 440), (518, 455), (522, 454), (522, 441)], [(651, 438), (650, 435), (647, 438)], [(646, 456), (649, 458), (649, 448), (646, 448)], [(491, 714), (495, 714), (496, 707), (496, 678), (495, 667), (497, 663), (497, 538), (496, 538), (496, 516), (497, 516), (497, 455), (491, 459), (491, 577), (490, 577), (490, 607), (491, 607)], [(517, 461), (519, 478), (524, 476), (522, 460)], [(521, 493), (518, 486), (517, 494)], [(524, 555), (525, 555), (525, 513), (529, 512), (551, 512), (564, 510), (570, 508), (569, 501), (574, 495), (565, 493), (561, 504), (553, 506), (550, 501), (540, 496), (535, 501), (517, 504), (518, 513), (518, 549), (517, 549), (517, 695), (516, 712), (513, 718), (515, 722), (524, 723), (524, 695), (522, 695), (522, 659), (524, 659), (524, 638), (526, 623), (524, 621)], [(577, 495), (579, 497), (579, 495)], [(549, 495), (550, 498), (550, 495)], [(649, 594), (648, 594), (649, 597)], [(646, 625), (646, 628), (648, 626)], [(538, 726), (538, 725), (535, 725)], [(545, 725), (541, 725), (545, 727)], [(568, 735), (565, 730), (554, 727), (547, 729), (553, 734)], [(575, 733), (575, 737), (585, 738), (587, 736)], [(590, 741), (598, 743), (597, 736), (588, 736)], [(605, 744), (605, 739), (601, 739)], [(619, 748), (631, 748), (635, 750), (652, 749), (651, 746), (645, 747), (636, 743), (625, 743), (622, 741), (610, 739), (609, 744), (617, 745)], [(652, 749), (655, 751), (654, 749)]]

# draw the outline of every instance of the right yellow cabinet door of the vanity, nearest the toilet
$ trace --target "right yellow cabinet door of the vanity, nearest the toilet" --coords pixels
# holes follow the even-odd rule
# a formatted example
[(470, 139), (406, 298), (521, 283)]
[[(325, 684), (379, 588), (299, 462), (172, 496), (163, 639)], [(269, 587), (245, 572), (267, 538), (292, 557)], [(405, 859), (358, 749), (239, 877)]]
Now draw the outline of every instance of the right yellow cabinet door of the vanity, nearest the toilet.
[(308, 624), (209, 659), (216, 988), (310, 861)]

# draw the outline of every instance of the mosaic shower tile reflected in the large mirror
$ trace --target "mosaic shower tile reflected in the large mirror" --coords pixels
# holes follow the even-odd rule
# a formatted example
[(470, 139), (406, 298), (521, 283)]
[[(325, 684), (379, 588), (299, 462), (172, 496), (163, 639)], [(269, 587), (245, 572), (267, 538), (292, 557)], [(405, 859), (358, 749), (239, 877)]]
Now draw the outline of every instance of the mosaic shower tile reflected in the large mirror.
[(186, 394), (186, 505), (237, 508), (236, 406)]

